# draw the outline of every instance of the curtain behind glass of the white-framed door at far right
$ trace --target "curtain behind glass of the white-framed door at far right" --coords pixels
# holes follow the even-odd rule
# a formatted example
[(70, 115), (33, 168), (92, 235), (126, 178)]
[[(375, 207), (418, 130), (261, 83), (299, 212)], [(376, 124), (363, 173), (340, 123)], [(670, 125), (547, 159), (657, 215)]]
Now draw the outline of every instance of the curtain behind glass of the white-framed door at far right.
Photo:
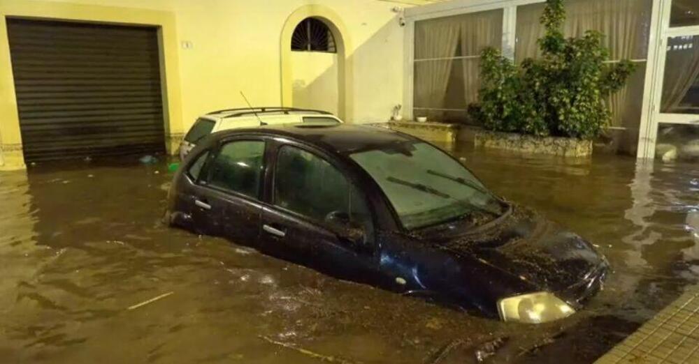
[[(682, 112), (677, 109), (699, 77), (699, 36), (691, 39), (670, 38), (665, 57), (661, 112)], [(692, 105), (699, 107), (699, 105)], [(686, 112), (686, 111), (685, 111)]]

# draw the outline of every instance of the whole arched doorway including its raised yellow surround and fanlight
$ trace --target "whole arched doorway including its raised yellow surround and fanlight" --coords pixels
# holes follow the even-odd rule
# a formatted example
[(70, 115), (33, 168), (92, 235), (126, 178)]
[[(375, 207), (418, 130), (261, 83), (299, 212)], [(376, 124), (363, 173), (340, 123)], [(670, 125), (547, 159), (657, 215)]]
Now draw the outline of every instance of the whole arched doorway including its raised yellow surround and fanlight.
[(280, 48), (282, 105), (352, 121), (352, 60), (340, 17), (322, 5), (298, 8), (284, 23)]

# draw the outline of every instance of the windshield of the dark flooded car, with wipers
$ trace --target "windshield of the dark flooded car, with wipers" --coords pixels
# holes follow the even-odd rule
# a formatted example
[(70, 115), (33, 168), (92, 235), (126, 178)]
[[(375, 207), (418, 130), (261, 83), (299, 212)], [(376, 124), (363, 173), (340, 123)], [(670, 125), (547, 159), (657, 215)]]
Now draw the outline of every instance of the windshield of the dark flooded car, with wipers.
[(466, 167), (430, 144), (403, 142), (350, 157), (379, 184), (406, 229), (504, 212), (503, 203)]

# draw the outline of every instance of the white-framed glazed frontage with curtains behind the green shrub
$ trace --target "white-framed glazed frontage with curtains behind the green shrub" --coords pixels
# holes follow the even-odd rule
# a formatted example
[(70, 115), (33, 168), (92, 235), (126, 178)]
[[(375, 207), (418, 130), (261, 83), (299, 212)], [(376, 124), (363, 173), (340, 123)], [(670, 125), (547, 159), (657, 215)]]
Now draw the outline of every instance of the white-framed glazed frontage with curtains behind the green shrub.
[[(480, 50), (515, 62), (537, 56), (545, 0), (453, 0), (405, 11), (406, 117), (466, 118)], [(610, 62), (637, 65), (608, 100), (617, 151), (699, 157), (699, 1), (566, 0), (565, 36), (601, 31)]]

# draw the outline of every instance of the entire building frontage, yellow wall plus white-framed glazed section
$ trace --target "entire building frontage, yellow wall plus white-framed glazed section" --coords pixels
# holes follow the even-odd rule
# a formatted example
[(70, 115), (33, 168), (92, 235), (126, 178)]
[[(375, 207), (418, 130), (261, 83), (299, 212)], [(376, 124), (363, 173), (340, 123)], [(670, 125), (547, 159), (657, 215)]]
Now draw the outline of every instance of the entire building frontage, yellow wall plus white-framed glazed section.
[[(1, 0), (0, 169), (172, 151), (197, 116), (252, 105), (347, 122), (468, 122), (479, 54), (537, 56), (545, 0)], [(608, 103), (614, 148), (699, 156), (699, 1), (566, 0), (637, 70)], [(245, 95), (245, 97), (243, 97)]]

